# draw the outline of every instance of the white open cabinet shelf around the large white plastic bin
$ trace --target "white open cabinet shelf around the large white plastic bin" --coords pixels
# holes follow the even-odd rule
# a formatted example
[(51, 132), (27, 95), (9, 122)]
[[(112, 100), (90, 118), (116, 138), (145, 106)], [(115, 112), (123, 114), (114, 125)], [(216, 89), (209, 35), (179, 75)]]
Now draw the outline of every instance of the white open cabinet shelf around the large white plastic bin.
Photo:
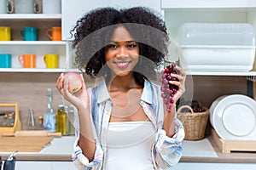
[[(179, 43), (178, 29), (187, 22), (248, 23), (251, 24), (256, 31), (256, 1), (254, 0), (161, 0), (161, 8), (166, 21), (167, 31), (170, 37), (177, 43)], [(256, 76), (255, 71), (190, 71), (189, 74), (209, 76)]]

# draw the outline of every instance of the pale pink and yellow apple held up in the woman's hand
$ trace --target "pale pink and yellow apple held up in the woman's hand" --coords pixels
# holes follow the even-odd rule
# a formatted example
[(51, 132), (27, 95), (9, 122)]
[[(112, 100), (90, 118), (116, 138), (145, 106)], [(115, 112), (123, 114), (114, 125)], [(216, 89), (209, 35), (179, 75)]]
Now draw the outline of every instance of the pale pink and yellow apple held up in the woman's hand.
[(64, 76), (68, 80), (68, 91), (70, 93), (76, 93), (82, 88), (82, 78), (78, 72), (67, 72)]

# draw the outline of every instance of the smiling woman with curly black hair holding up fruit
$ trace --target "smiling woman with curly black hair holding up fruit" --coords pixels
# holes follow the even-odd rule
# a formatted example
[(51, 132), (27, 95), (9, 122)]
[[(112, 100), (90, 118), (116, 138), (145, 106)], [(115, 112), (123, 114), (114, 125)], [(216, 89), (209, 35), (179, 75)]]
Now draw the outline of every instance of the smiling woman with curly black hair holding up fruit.
[[(85, 83), (68, 92), (63, 74), (57, 88), (76, 106), (79, 129), (73, 160), (79, 169), (166, 169), (179, 161), (184, 137), (175, 118), (175, 103), (185, 91), (180, 74), (170, 112), (155, 84), (157, 69), (168, 53), (163, 20), (148, 8), (97, 8), (74, 27), (76, 64), (96, 86)], [(83, 79), (84, 81), (84, 79)], [(158, 81), (158, 80), (156, 80)]]

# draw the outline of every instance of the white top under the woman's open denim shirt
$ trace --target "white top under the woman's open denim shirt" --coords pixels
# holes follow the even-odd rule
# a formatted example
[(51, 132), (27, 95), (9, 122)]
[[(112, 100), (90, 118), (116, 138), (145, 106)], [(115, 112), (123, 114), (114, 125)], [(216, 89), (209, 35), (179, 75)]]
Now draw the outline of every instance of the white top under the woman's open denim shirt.
[(152, 122), (110, 122), (104, 170), (154, 170)]

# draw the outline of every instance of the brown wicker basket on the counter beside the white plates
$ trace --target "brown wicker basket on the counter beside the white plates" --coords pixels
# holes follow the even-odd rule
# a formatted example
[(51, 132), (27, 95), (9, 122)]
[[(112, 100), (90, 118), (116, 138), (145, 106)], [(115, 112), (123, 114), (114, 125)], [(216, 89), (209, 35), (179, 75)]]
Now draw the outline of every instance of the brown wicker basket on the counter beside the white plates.
[[(189, 109), (189, 112), (183, 110)], [(177, 109), (177, 118), (183, 122), (186, 140), (199, 140), (205, 137), (209, 109), (204, 112), (194, 112), (189, 105), (182, 105)]]

